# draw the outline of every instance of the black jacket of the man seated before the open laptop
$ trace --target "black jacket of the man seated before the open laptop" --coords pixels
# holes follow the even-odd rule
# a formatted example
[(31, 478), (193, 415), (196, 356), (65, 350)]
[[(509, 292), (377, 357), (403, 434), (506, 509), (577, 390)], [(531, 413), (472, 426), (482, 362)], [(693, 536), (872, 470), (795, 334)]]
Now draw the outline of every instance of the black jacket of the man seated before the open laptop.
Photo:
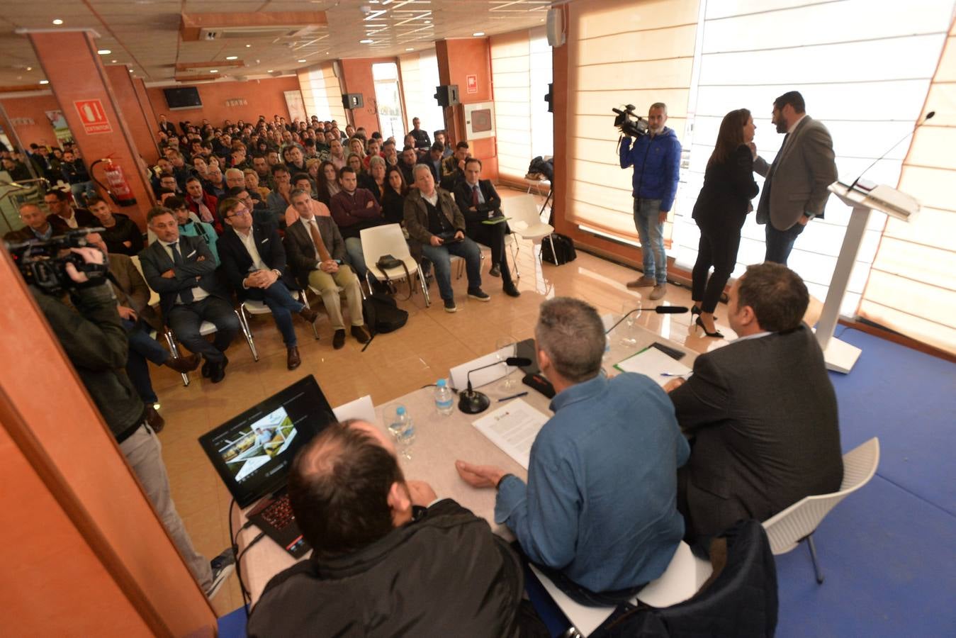
[(521, 564), (450, 499), (359, 551), (296, 563), (266, 585), (250, 638), (518, 635)]

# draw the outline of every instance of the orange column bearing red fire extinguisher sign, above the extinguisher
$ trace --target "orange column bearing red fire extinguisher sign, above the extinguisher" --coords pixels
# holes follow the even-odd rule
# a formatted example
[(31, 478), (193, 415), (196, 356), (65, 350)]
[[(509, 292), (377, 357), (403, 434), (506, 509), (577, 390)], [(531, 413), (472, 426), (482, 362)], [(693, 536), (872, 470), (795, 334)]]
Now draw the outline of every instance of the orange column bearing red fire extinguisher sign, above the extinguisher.
[[(123, 207), (121, 211), (145, 229), (145, 213), (154, 202), (152, 190), (141, 169), (140, 151), (119, 99), (99, 60), (95, 33), (57, 31), (28, 35), (84, 162), (89, 166), (98, 159), (113, 157), (137, 201), (135, 206)], [(103, 181), (102, 171), (98, 175)]]

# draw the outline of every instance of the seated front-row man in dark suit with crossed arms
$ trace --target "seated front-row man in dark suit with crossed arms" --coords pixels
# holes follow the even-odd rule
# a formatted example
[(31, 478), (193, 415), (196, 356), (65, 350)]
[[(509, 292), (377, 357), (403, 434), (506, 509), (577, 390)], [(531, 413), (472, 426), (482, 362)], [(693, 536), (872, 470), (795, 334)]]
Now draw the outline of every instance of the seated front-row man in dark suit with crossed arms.
[[(215, 259), (202, 238), (180, 235), (172, 210), (151, 209), (146, 223), (157, 237), (140, 253), (146, 283), (160, 294), (160, 309), (173, 335), (203, 356), (203, 376), (218, 384), (226, 378), (226, 349), (239, 332), (239, 319), (216, 280)], [(216, 326), (212, 343), (199, 334), (203, 321)]]

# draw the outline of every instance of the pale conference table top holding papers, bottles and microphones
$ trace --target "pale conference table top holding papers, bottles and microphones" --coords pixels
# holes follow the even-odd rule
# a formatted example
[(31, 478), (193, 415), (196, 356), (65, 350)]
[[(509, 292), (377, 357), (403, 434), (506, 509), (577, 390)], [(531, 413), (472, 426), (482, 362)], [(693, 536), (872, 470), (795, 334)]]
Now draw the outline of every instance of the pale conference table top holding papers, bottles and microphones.
[[(619, 317), (605, 316), (602, 319), (605, 327), (610, 327)], [(622, 342), (622, 337), (625, 336), (629, 338), (626, 343)], [(603, 360), (605, 373), (611, 376), (617, 374), (618, 371), (614, 368), (615, 363), (640, 352), (655, 341), (684, 352), (686, 356), (681, 359), (681, 363), (688, 367), (693, 366), (693, 361), (697, 356), (697, 353), (693, 350), (684, 348), (683, 345), (674, 341), (665, 340), (660, 335), (640, 325), (628, 327), (622, 322), (609, 335), (609, 349)], [(550, 417), (552, 415), (549, 408), (551, 400), (531, 387), (522, 384), (521, 378), (523, 376), (524, 373), (519, 368), (511, 371), (509, 378), (514, 379), (516, 384), (510, 390), (505, 390), (502, 387), (504, 378), (477, 388), (485, 392), (491, 400), (489, 409), (482, 414), (465, 414), (457, 408), (457, 402), (451, 414), (447, 416), (439, 414), (435, 408), (433, 387), (414, 390), (395, 400), (374, 407), (376, 418), (373, 425), (381, 429), (386, 435), (388, 434), (387, 425), (395, 416), (396, 407), (404, 406), (413, 420), (415, 441), (409, 449), (411, 458), (405, 458), (401, 451), (399, 452), (399, 462), (406, 479), (426, 481), (439, 498), (453, 498), (462, 506), (474, 512), (475, 515), (487, 519), (495, 534), (509, 540), (513, 539), (513, 536), (508, 528), (494, 522), (495, 490), (479, 490), (467, 485), (455, 471), (455, 460), (463, 459), (479, 465), (497, 466), (507, 473), (515, 474), (521, 479), (527, 480), (527, 470), (471, 425), (489, 411), (507, 405), (507, 403), (499, 403), (499, 398), (525, 390), (528, 391), (528, 394), (521, 399)], [(254, 507), (255, 505), (251, 505), (242, 511), (238, 508), (232, 509), (229, 516), (231, 517), (233, 530), (242, 528), (247, 521), (245, 513)], [(239, 573), (246, 590), (250, 593), (252, 605), (255, 605), (259, 600), (262, 590), (273, 576), (295, 563), (295, 559), (269, 537), (264, 537), (249, 547), (250, 542), (259, 536), (259, 532), (259, 528), (250, 525), (250, 527), (241, 530), (236, 539), (237, 556), (241, 556)], [(249, 551), (246, 551), (247, 547), (249, 547)]]

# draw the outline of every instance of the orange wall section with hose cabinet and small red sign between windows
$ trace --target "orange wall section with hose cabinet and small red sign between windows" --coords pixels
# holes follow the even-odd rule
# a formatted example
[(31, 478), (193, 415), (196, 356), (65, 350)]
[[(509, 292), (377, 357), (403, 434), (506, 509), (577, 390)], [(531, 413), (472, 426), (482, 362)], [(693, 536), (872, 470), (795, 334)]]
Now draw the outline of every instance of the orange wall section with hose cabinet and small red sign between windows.
[[(491, 87), (491, 45), (487, 37), (439, 40), (435, 43), (438, 55), (438, 77), (445, 84), (458, 85), (458, 99), (462, 104), (486, 102), (494, 99)], [(467, 76), (478, 79), (477, 93), (467, 92)], [(461, 105), (445, 108), (448, 141), (452, 144), (465, 140), (464, 111)], [(468, 142), (471, 155), (482, 161), (482, 177), (498, 180), (498, 150), (495, 138)]]

